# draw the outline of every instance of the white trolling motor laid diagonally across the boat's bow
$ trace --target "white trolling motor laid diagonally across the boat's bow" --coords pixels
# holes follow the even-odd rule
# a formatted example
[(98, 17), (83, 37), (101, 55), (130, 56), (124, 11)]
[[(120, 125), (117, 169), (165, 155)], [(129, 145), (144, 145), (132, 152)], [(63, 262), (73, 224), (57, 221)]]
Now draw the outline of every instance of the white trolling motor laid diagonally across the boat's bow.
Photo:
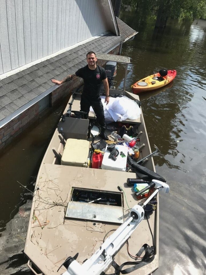
[[(90, 259), (86, 260), (81, 265), (76, 261), (78, 253), (73, 258), (67, 258), (66, 261), (62, 264), (67, 269), (63, 275), (100, 275), (104, 270), (106, 270), (106, 268), (112, 263), (113, 255), (127, 241), (127, 239), (144, 218), (145, 205), (153, 197), (155, 197), (159, 191), (165, 194), (169, 193), (169, 185), (160, 180), (152, 180), (151, 184), (149, 184), (149, 186), (146, 188), (149, 189), (151, 187), (154, 187), (155, 190), (147, 198), (143, 205), (134, 205), (134, 207), (132, 207), (126, 221), (106, 239), (106, 241), (102, 244), (102, 246), (100, 246), (100, 248), (92, 255)], [(145, 191), (145, 188), (142, 189), (140, 193), (144, 192), (143, 190)]]

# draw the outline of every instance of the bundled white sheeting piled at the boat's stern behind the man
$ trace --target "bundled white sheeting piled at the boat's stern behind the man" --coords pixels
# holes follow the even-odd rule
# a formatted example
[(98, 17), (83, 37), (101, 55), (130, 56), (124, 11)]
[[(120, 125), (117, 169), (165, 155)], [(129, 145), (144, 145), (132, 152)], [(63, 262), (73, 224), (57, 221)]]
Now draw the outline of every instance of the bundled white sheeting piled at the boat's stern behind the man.
[[(110, 97), (108, 105), (104, 103), (105, 97), (101, 98), (106, 121), (135, 120), (141, 115), (141, 109), (138, 104), (128, 97)], [(93, 109), (90, 108), (90, 111), (93, 111)]]

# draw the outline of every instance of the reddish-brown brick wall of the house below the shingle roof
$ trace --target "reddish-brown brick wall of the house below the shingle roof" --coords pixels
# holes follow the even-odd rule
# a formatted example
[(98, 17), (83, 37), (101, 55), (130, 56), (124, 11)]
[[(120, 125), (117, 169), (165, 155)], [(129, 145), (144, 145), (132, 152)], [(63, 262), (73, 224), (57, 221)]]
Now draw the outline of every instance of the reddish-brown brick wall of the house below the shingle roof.
[[(109, 54), (119, 54), (119, 46), (110, 51)], [(102, 66), (106, 62), (98, 61), (98, 64)], [(68, 96), (76, 87), (79, 87), (83, 83), (81, 78), (65, 82), (49, 95), (49, 107), (54, 106), (58, 101)], [(41, 113), (39, 103), (35, 103), (29, 109), (15, 117), (12, 121), (7, 123), (0, 129), (0, 150), (10, 144), (17, 135), (22, 133), (28, 126), (34, 123)]]

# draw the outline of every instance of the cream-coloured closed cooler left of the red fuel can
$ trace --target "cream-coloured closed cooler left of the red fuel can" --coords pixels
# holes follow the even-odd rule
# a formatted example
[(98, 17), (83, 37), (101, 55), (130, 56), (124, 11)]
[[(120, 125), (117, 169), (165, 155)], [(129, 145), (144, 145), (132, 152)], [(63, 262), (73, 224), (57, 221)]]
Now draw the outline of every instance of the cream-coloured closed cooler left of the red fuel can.
[(89, 141), (68, 138), (62, 154), (61, 164), (87, 167)]

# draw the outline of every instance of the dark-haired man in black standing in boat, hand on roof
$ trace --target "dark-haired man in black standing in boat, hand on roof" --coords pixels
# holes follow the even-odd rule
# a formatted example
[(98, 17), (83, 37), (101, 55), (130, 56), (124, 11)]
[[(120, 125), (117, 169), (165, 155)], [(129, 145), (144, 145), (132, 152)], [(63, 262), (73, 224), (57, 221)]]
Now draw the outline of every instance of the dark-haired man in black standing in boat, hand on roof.
[(62, 80), (52, 79), (51, 81), (57, 85), (69, 81), (71, 79), (78, 77), (83, 78), (84, 88), (82, 91), (81, 101), (80, 101), (80, 111), (86, 112), (83, 118), (88, 119), (90, 106), (92, 106), (96, 117), (97, 122), (100, 126), (99, 136), (104, 140), (108, 140), (107, 135), (105, 134), (106, 123), (104, 118), (104, 108), (100, 98), (100, 88), (102, 85), (102, 80), (105, 89), (105, 103), (109, 103), (109, 84), (107, 80), (106, 71), (104, 68), (96, 65), (96, 54), (95, 52), (88, 52), (86, 55), (87, 63), (83, 68), (80, 68), (75, 74), (70, 74)]

